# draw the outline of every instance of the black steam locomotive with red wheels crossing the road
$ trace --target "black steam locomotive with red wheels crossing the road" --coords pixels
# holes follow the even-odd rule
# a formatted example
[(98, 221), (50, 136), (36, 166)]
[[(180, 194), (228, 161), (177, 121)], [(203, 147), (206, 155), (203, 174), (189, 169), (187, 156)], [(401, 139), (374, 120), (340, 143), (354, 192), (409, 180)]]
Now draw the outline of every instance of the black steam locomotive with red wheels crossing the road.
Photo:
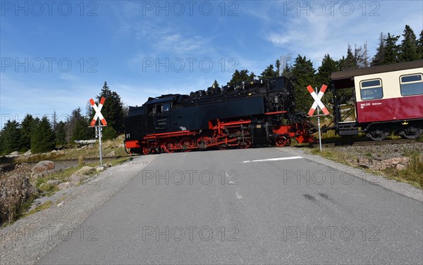
[(314, 142), (312, 124), (295, 113), (294, 88), (286, 77), (209, 87), (190, 95), (149, 98), (125, 117), (130, 153), (173, 153), (206, 148)]

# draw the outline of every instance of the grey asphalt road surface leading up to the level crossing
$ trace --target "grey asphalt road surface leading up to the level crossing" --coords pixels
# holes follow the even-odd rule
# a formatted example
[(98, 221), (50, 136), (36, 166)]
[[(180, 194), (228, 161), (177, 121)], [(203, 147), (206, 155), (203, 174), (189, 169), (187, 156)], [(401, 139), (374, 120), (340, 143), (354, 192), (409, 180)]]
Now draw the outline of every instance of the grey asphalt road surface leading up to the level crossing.
[(422, 263), (422, 202), (283, 148), (160, 155), (39, 260)]

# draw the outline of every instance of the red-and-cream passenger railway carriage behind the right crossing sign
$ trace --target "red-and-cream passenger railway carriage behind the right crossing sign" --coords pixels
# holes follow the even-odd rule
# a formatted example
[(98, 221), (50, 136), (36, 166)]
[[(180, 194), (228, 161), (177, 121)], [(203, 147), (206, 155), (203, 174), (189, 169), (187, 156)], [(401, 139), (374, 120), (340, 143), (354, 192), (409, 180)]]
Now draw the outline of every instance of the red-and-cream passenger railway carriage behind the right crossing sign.
[[(337, 134), (363, 132), (380, 141), (391, 132), (403, 138), (423, 133), (423, 60), (334, 72), (331, 78)], [(353, 90), (350, 108), (340, 96), (344, 89)]]

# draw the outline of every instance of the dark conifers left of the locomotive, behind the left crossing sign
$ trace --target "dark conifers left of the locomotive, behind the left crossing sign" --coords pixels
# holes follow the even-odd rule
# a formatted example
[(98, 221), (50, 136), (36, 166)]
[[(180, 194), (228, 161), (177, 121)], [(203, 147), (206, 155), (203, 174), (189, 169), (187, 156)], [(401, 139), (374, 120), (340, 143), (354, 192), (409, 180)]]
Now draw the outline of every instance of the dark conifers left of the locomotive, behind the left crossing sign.
[[(102, 115), (108, 122), (108, 127), (104, 127), (102, 136), (105, 140), (116, 138), (118, 134), (123, 133), (127, 110), (121, 97), (115, 91), (111, 91), (106, 82), (97, 100), (102, 97), (106, 98)], [(22, 122), (8, 120), (0, 131), (0, 155), (27, 150), (31, 150), (33, 154), (44, 153), (54, 150), (56, 146), (73, 143), (75, 140), (92, 139), (95, 137), (94, 129), (90, 128), (93, 116), (92, 107), (87, 103), (85, 114), (82, 114), (81, 108), (76, 108), (65, 121), (57, 122), (56, 112), (51, 120), (47, 116), (40, 119), (30, 114), (25, 115)]]

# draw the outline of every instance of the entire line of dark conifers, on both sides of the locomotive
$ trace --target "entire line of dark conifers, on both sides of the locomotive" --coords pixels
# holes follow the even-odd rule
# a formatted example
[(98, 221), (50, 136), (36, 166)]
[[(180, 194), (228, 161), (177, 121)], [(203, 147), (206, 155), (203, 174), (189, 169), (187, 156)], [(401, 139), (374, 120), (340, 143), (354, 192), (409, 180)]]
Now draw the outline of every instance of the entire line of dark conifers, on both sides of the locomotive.
[[(270, 64), (263, 70), (258, 77), (254, 72), (245, 70), (235, 70), (228, 85), (235, 85), (237, 82), (251, 82), (257, 78), (271, 78), (285, 76), (291, 79), (295, 87), (296, 110), (307, 112), (313, 103), (307, 89), (309, 84), (312, 86), (329, 85), (331, 83), (331, 73), (343, 70), (353, 70), (363, 67), (388, 65), (392, 63), (407, 62), (423, 59), (423, 30), (417, 39), (415, 33), (409, 25), (405, 25), (400, 35), (384, 34), (379, 36), (379, 44), (376, 53), (369, 58), (367, 43), (363, 46), (354, 46), (354, 49), (348, 45), (346, 56), (342, 58), (332, 58), (326, 54), (321, 60), (321, 65), (314, 69), (312, 61), (306, 56), (295, 58), (293, 65), (281, 65), (280, 60)], [(281, 68), (283, 67), (283, 68)], [(214, 80), (213, 87), (219, 86)], [(344, 99), (352, 96), (352, 91), (345, 90), (344, 94), (339, 95)], [(108, 122), (108, 127), (103, 129), (104, 139), (116, 138), (118, 134), (124, 131), (124, 117), (127, 109), (123, 107), (121, 97), (114, 91), (111, 91), (106, 82), (102, 91), (97, 96), (106, 98), (102, 114)], [(330, 105), (333, 99), (331, 91), (326, 91), (322, 101)], [(94, 138), (94, 129), (90, 128), (90, 122), (94, 113), (90, 103), (87, 103), (85, 115), (82, 110), (77, 108), (72, 111), (66, 121), (56, 122), (56, 115), (50, 122), (47, 117), (32, 117), (27, 114), (21, 123), (16, 120), (6, 122), (4, 128), (0, 131), (0, 155), (6, 155), (13, 151), (31, 150), (32, 153), (44, 153), (53, 150), (56, 146), (63, 146), (74, 140), (87, 140)]]

